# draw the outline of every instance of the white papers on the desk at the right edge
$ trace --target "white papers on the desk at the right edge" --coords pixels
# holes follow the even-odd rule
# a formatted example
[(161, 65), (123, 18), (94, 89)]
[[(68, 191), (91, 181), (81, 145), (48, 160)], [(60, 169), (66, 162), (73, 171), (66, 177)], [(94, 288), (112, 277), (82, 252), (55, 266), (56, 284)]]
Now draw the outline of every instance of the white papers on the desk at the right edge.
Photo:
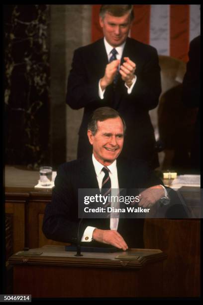
[(170, 187), (177, 189), (182, 186), (200, 187), (200, 175), (180, 175), (173, 180)]

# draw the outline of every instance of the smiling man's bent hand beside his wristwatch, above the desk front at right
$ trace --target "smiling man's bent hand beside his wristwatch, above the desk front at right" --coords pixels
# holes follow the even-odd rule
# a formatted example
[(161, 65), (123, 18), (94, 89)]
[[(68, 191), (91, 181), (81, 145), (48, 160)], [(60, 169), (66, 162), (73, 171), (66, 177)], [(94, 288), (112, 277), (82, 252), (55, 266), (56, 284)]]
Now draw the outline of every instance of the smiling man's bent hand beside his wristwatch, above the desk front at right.
[(162, 197), (164, 197), (163, 187), (161, 185), (151, 186), (139, 194), (138, 205), (143, 208), (151, 208)]

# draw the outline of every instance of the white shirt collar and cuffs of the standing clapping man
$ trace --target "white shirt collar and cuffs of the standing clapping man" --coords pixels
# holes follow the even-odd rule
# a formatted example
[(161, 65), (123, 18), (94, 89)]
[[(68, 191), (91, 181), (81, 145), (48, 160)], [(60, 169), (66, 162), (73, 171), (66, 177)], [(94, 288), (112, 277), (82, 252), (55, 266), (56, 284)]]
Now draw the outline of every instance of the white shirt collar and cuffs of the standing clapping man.
[[(109, 59), (110, 59), (110, 57), (112, 55), (111, 54), (111, 50), (113, 49), (113, 47), (106, 41), (105, 37), (103, 39), (104, 39), (104, 45), (105, 45), (105, 49), (106, 49), (106, 54), (108, 56), (108, 61), (109, 61)], [(118, 47), (114, 48), (117, 51), (117, 54), (116, 54), (116, 58), (117, 59), (121, 59), (124, 46), (125, 46), (125, 42), (123, 42), (123, 44), (119, 45)], [(132, 85), (130, 86), (130, 88), (125, 84), (125, 87), (127, 88), (127, 93), (128, 94), (130, 94), (132, 92), (132, 89), (134, 87), (134, 84), (135, 84), (136, 80), (137, 80), (137, 76), (135, 75), (135, 77), (133, 78)], [(99, 96), (100, 96), (101, 99), (103, 99), (104, 92), (105, 92), (105, 89), (102, 91), (102, 88), (100, 86), (100, 80), (99, 80)]]

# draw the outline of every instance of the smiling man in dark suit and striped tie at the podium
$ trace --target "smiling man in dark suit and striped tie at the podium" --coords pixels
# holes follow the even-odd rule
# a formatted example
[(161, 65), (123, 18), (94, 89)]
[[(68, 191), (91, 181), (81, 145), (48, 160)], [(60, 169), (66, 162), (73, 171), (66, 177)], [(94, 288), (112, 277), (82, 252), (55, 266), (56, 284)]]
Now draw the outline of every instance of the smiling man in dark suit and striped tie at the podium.
[(163, 204), (168, 203), (162, 181), (153, 175), (145, 161), (118, 158), (124, 131), (125, 123), (114, 109), (102, 107), (93, 113), (88, 125), (92, 156), (64, 163), (57, 171), (52, 202), (46, 206), (43, 221), (43, 232), (48, 239), (76, 243), (79, 235), (79, 240), (87, 246), (111, 245), (123, 250), (144, 247), (144, 219), (86, 218), (81, 222), (78, 219), (78, 189), (102, 191), (108, 182), (111, 191), (125, 188), (126, 194), (132, 194), (138, 189), (139, 203), (133, 203), (134, 206), (151, 208), (160, 199)]

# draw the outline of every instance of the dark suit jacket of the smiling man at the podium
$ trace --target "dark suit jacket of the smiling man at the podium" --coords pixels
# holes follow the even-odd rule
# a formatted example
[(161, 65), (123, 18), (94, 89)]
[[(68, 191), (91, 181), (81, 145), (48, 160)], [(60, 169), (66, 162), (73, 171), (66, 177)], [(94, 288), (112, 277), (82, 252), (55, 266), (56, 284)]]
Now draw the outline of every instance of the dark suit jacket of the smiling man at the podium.
[[(126, 188), (127, 194), (131, 189), (163, 184), (142, 160), (129, 161), (118, 158), (117, 174), (119, 188)], [(60, 165), (55, 179), (52, 202), (47, 204), (44, 215), (43, 232), (48, 239), (77, 242), (78, 188), (99, 189), (92, 156)], [(80, 239), (87, 226), (109, 230), (109, 223), (109, 219), (83, 219), (80, 225)], [(143, 248), (143, 224), (144, 219), (120, 218), (117, 231), (129, 247)], [(85, 244), (93, 245), (92, 242)], [(98, 244), (102, 247), (104, 245)]]

